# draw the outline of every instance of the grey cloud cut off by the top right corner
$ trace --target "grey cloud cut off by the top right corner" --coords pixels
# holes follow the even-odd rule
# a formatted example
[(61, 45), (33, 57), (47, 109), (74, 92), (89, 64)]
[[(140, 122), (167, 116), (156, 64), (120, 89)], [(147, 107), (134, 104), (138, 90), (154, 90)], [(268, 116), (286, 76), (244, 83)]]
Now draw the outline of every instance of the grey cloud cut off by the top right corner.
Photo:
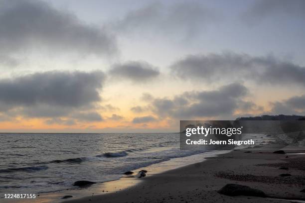
[(248, 24), (255, 24), (273, 15), (304, 18), (304, 10), (304, 0), (257, 0), (242, 15), (242, 19)]

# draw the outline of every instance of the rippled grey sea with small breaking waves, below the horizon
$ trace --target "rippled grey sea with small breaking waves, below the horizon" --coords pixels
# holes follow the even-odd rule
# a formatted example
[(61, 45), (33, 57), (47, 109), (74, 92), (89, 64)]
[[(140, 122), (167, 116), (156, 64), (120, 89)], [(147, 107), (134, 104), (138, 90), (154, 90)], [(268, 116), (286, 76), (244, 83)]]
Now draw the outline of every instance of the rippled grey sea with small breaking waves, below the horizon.
[(37, 194), (106, 182), (129, 170), (206, 151), (179, 150), (175, 133), (0, 133), (0, 193)]

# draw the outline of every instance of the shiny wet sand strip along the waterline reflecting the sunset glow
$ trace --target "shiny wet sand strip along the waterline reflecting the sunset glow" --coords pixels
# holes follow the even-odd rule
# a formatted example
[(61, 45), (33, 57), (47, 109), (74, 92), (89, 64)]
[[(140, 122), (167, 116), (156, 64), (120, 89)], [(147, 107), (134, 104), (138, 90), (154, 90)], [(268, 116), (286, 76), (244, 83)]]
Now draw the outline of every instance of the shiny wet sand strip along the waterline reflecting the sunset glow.
[[(96, 183), (89, 187), (80, 188), (68, 188), (58, 191), (41, 192), (36, 194), (36, 199), (1, 199), (4, 203), (58, 203), (65, 201), (77, 201), (82, 198), (89, 197), (94, 194), (101, 194), (105, 196), (107, 194), (117, 193), (123, 190), (127, 190), (134, 186), (141, 184), (145, 179), (153, 177), (154, 175), (165, 173), (167, 171), (179, 169), (185, 166), (196, 164), (198, 162), (205, 162), (211, 157), (216, 157), (217, 155), (227, 154), (230, 150), (214, 150), (207, 151), (198, 154), (193, 154), (185, 157), (171, 158), (167, 161), (155, 163), (147, 167), (141, 167), (134, 172), (141, 170), (148, 170), (147, 176), (144, 178), (136, 178), (132, 176), (122, 175), (119, 179), (106, 181), (102, 183)], [(136, 174), (136, 173), (135, 173)], [(69, 199), (61, 199), (64, 196), (73, 196)]]

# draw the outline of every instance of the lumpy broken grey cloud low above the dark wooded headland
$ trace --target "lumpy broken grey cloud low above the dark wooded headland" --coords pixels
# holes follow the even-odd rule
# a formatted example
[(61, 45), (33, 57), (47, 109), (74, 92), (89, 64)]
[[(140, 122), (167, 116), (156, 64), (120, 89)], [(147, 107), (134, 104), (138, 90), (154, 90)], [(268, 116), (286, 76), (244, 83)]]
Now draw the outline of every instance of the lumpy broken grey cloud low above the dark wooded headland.
[(233, 83), (214, 91), (185, 92), (173, 99), (154, 99), (152, 110), (160, 117), (192, 119), (198, 117), (230, 116), (235, 110), (252, 110), (257, 106), (243, 99), (248, 90), (241, 84)]

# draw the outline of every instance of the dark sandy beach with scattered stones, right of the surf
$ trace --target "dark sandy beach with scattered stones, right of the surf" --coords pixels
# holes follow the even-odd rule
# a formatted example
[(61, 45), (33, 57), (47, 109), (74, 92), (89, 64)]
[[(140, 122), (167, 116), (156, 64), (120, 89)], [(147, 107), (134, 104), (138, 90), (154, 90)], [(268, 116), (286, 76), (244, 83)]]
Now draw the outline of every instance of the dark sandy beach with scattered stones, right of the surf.
[[(247, 152), (247, 153), (245, 153)], [(303, 152), (304, 151), (293, 151)], [(207, 161), (143, 178), (115, 193), (94, 194), (65, 203), (279, 203), (305, 200), (305, 155), (275, 154), (265, 150), (236, 150)], [(280, 169), (285, 167), (286, 169)], [(288, 169), (287, 169), (288, 168)], [(291, 176), (282, 177), (281, 174)], [(226, 196), (226, 184), (263, 191), (267, 197)], [(271, 197), (271, 198), (270, 198)], [(281, 200), (282, 199), (282, 200)], [(287, 201), (288, 200), (288, 201)]]

